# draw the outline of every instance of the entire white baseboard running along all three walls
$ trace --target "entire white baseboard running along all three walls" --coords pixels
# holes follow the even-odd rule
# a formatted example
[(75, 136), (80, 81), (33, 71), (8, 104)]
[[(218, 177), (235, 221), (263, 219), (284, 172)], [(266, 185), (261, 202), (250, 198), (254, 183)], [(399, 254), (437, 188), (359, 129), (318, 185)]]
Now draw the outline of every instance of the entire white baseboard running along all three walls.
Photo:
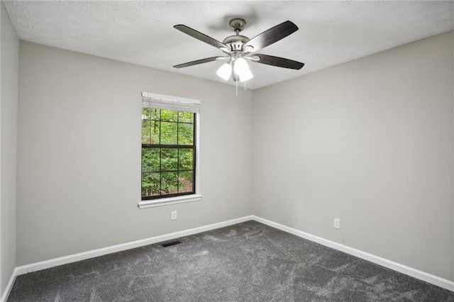
[(196, 233), (205, 232), (207, 230), (214, 230), (216, 228), (223, 228), (223, 227), (226, 227), (228, 225), (234, 225), (236, 223), (243, 223), (243, 222), (248, 221), (248, 220), (255, 220), (255, 221), (258, 221), (259, 223), (263, 223), (265, 225), (270, 225), (271, 227), (277, 228), (279, 230), (283, 230), (284, 232), (287, 232), (287, 233), (290, 233), (290, 234), (293, 234), (293, 235), (297, 235), (298, 237), (302, 237), (302, 238), (305, 238), (307, 240), (311, 240), (311, 241), (317, 242), (317, 243), (319, 243), (321, 245), (325, 245), (327, 247), (331, 247), (333, 249), (340, 250), (341, 252), (346, 252), (346, 253), (348, 253), (350, 255), (353, 255), (353, 256), (368, 260), (370, 262), (374, 262), (376, 264), (380, 264), (383, 267), (387, 267), (389, 269), (394, 269), (394, 271), (401, 272), (401, 273), (407, 274), (409, 276), (413, 276), (416, 279), (421, 279), (423, 281), (426, 281), (428, 283), (434, 284), (436, 286), (440, 286), (443, 289), (448, 289), (450, 291), (454, 291), (454, 282), (453, 281), (449, 281), (447, 279), (443, 279), (443, 278), (440, 278), (438, 276), (434, 276), (432, 274), (428, 274), (426, 272), (421, 272), (418, 269), (413, 269), (411, 267), (406, 267), (403, 264), (399, 264), (397, 262), (392, 262), (392, 261), (390, 261), (388, 259), (384, 259), (382, 257), (378, 257), (378, 256), (375, 256), (375, 255), (369, 254), (367, 252), (362, 252), (361, 250), (356, 250), (353, 247), (348, 247), (346, 245), (341, 245), (340, 243), (333, 242), (331, 240), (326, 240), (326, 239), (324, 239), (322, 237), (314, 236), (314, 235), (311, 235), (309, 233), (304, 233), (301, 230), (297, 230), (297, 229), (294, 229), (294, 228), (289, 228), (286, 225), (281, 225), (281, 224), (275, 223), (275, 222), (273, 222), (271, 220), (267, 220), (267, 219), (264, 219), (264, 218), (260, 218), (258, 216), (251, 215), (251, 216), (244, 216), (244, 217), (241, 217), (241, 218), (236, 218), (236, 219), (232, 219), (232, 220), (223, 221), (221, 223), (214, 223), (214, 224), (211, 224), (211, 225), (204, 225), (204, 226), (201, 226), (199, 228), (192, 228), (192, 229), (189, 229), (189, 230), (182, 230), (182, 231), (175, 232), (175, 233), (169, 233), (169, 234), (165, 234), (165, 235), (150, 237), (150, 238), (146, 238), (146, 239), (143, 239), (143, 240), (137, 240), (137, 241), (133, 241), (133, 242), (123, 243), (121, 245), (114, 245), (114, 246), (111, 246), (111, 247), (104, 247), (104, 248), (101, 248), (101, 249), (98, 249), (98, 250), (81, 252), (81, 253), (74, 254), (74, 255), (68, 255), (68, 256), (65, 256), (65, 257), (49, 259), (49, 260), (45, 260), (45, 261), (42, 261), (42, 262), (36, 262), (36, 263), (32, 263), (32, 264), (23, 265), (21, 267), (16, 267), (16, 269), (14, 269), (14, 272), (13, 272), (13, 274), (11, 276), (11, 279), (9, 280), (8, 285), (6, 286), (6, 290), (4, 291), (3, 296), (1, 296), (1, 298), (0, 298), (0, 302), (5, 302), (7, 300), (8, 296), (9, 296), (9, 293), (11, 292), (11, 289), (13, 288), (13, 284), (14, 284), (14, 281), (16, 280), (16, 276), (21, 275), (21, 274), (27, 274), (27, 273), (30, 273), (30, 272), (39, 271), (41, 269), (49, 269), (50, 267), (57, 267), (57, 266), (62, 265), (62, 264), (68, 264), (68, 263), (77, 262), (77, 261), (80, 261), (80, 260), (83, 260), (83, 259), (89, 259), (89, 258), (93, 258), (93, 257), (107, 255), (107, 254), (111, 254), (113, 252), (121, 252), (123, 250), (130, 250), (130, 249), (133, 249), (135, 247), (143, 247), (145, 245), (152, 245), (152, 244), (157, 243), (157, 242), (163, 242), (163, 241), (167, 241), (167, 240), (172, 240), (172, 239), (175, 239), (175, 238), (178, 238), (178, 237), (184, 237), (184, 236), (193, 235), (193, 234), (196, 234)]

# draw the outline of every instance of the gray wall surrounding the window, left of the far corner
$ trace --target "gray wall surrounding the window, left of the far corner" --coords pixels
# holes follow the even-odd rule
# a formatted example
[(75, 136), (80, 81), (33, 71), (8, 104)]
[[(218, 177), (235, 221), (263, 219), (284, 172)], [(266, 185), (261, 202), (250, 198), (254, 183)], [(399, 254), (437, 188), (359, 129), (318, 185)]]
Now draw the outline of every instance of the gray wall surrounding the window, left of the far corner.
[[(23, 41), (20, 58), (18, 265), (252, 213), (252, 91)], [(141, 91), (201, 100), (201, 201), (137, 207)]]

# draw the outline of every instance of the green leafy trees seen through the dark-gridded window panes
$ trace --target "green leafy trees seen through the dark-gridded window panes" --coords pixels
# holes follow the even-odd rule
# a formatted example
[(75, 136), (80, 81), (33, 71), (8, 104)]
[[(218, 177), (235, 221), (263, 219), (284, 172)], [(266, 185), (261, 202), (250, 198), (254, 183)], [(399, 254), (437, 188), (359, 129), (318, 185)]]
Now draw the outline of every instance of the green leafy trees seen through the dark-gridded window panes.
[(143, 197), (192, 191), (194, 113), (143, 108), (142, 144)]

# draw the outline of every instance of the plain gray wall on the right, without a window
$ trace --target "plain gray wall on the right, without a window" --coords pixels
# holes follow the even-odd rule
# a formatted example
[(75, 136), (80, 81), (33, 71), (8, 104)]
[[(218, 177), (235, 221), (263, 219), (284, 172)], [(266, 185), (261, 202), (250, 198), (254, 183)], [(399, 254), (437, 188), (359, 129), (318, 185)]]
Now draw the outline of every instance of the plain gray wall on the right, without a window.
[(454, 281), (452, 31), (253, 97), (255, 215)]

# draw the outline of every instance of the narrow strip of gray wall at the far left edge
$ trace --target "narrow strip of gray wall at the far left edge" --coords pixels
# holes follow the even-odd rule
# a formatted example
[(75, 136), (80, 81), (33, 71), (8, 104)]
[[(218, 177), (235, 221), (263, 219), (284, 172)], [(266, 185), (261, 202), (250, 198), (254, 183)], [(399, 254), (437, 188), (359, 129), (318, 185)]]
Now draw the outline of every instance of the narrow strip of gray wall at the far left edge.
[(0, 296), (16, 267), (16, 153), (19, 39), (1, 6)]

